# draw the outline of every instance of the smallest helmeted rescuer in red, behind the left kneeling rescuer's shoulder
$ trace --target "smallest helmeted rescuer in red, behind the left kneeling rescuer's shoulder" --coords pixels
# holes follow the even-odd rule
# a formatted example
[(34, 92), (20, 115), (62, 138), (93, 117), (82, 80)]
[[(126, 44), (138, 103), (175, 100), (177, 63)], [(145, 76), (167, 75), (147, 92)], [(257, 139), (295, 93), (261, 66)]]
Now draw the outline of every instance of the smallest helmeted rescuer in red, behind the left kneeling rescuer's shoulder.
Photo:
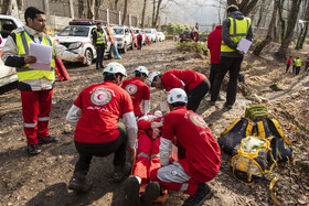
[[(137, 118), (141, 117), (143, 113), (147, 115), (150, 110), (150, 89), (145, 84), (148, 77), (148, 69), (145, 66), (138, 66), (135, 69), (135, 77), (131, 79), (126, 79), (122, 83), (122, 88), (128, 91), (132, 98), (135, 116)], [(140, 104), (143, 100), (142, 111), (140, 110)]]

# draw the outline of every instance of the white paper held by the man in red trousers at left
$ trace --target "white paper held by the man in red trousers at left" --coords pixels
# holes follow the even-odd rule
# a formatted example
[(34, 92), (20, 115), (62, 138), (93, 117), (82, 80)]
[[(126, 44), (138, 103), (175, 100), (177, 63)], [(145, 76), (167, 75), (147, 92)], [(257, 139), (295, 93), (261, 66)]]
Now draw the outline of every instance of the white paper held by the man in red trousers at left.
[(53, 47), (42, 44), (30, 43), (29, 55), (35, 56), (36, 62), (30, 64), (29, 68), (40, 69), (40, 71), (51, 71), (51, 59), (52, 59)]

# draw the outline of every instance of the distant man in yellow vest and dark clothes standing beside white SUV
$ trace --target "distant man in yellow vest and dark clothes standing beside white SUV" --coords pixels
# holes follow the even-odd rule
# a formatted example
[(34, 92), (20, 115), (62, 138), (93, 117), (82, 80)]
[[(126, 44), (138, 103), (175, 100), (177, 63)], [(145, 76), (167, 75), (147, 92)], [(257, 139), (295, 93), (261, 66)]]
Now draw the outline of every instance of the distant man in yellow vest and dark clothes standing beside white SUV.
[(98, 22), (97, 29), (93, 30), (93, 44), (97, 51), (96, 69), (98, 71), (99, 68), (104, 68), (103, 61), (106, 44), (106, 36), (102, 28), (102, 22)]

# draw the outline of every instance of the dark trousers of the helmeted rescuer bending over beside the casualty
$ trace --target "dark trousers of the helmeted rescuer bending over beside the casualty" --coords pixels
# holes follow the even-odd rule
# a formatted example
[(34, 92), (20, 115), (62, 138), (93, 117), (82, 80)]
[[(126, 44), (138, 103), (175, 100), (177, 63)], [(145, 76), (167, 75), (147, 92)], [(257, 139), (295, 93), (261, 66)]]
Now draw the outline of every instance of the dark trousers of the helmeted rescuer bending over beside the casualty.
[(189, 110), (195, 111), (200, 106), (200, 102), (205, 97), (205, 95), (210, 91), (211, 84), (209, 79), (203, 80), (195, 88), (188, 91), (188, 106)]

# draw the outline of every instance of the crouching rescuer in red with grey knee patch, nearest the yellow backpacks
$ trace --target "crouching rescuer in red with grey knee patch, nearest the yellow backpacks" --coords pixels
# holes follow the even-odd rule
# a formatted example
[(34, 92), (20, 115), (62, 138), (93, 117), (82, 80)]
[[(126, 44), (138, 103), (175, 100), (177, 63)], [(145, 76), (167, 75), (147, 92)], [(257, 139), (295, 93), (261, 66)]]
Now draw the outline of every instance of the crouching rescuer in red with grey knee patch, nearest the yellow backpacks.
[[(221, 150), (203, 118), (185, 108), (183, 89), (170, 90), (168, 102), (171, 112), (164, 116), (160, 139), (162, 167), (151, 171), (150, 181), (166, 189), (189, 194), (184, 205), (202, 205), (212, 195), (205, 182), (214, 178), (220, 170)], [(173, 158), (177, 162), (168, 165), (170, 153), (174, 156), (179, 152), (174, 141), (182, 145), (185, 156), (178, 161)]]

